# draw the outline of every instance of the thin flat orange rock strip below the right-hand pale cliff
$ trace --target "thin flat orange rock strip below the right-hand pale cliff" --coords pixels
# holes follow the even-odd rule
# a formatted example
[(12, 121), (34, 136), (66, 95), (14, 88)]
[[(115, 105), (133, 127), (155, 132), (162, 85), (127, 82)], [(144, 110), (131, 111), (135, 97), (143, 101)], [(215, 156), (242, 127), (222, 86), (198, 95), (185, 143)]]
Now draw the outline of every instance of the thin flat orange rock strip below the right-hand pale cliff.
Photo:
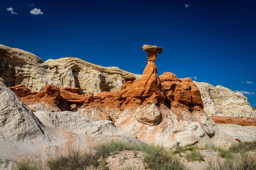
[(216, 124), (255, 125), (256, 118), (210, 117)]

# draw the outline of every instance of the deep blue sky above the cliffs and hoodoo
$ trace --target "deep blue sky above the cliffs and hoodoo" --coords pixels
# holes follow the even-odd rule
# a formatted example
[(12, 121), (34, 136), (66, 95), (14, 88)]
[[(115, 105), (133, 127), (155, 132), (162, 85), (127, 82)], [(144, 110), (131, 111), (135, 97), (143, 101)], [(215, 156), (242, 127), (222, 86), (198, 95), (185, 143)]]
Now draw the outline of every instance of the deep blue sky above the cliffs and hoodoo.
[(255, 1), (1, 0), (0, 43), (43, 60), (79, 57), (141, 74), (143, 44), (160, 74), (239, 90), (256, 107)]

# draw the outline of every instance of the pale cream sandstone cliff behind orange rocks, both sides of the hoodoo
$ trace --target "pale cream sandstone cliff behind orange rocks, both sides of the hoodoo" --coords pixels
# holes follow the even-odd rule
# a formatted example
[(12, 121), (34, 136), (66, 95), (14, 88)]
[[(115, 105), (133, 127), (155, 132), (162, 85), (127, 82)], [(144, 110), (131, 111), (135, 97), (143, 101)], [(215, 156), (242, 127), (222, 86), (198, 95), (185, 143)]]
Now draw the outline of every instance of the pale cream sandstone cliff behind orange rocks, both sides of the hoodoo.
[[(44, 62), (33, 53), (0, 45), (0, 77), (9, 87), (23, 84), (32, 92), (38, 92), (45, 85), (51, 84), (58, 87), (77, 87), (81, 89), (82, 94), (95, 95), (103, 91), (121, 90), (125, 75), (141, 78), (141, 75), (123, 71), (118, 67), (97, 66), (74, 57), (50, 59)], [(170, 85), (168, 82), (173, 80), (166, 81), (163, 78), (161, 81), (164, 88), (168, 89), (167, 86)], [(213, 87), (208, 83), (195, 81), (195, 84), (200, 90), (204, 111), (208, 115), (256, 117), (256, 112), (252, 110), (243, 94), (234, 93), (221, 86)], [(168, 97), (172, 96), (170, 89)]]

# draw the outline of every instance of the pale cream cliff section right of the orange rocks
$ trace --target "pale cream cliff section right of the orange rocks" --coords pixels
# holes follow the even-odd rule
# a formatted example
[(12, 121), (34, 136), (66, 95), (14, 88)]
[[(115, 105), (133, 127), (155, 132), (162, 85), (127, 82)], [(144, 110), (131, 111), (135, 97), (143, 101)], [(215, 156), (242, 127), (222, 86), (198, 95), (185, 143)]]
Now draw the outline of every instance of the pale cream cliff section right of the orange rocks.
[(214, 87), (209, 83), (194, 82), (200, 90), (207, 115), (256, 118), (256, 112), (243, 94), (221, 85)]

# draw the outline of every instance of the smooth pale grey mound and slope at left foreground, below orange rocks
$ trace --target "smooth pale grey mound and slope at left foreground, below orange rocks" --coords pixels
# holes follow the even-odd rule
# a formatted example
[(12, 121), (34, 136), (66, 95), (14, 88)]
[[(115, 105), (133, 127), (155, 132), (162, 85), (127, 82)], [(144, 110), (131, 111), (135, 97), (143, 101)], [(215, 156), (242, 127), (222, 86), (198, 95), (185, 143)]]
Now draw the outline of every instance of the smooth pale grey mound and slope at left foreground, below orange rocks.
[(0, 78), (1, 168), (12, 169), (20, 159), (39, 159), (44, 165), (49, 157), (111, 139), (140, 142), (113, 122), (92, 122), (77, 112), (34, 114)]

